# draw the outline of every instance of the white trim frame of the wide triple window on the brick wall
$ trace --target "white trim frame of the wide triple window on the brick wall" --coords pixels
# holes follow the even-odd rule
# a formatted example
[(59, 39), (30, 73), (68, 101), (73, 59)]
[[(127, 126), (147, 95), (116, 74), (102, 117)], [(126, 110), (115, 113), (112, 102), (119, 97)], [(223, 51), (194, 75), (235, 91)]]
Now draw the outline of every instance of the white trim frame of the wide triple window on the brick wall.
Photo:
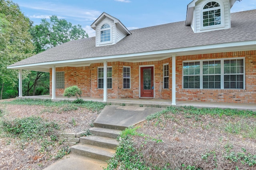
[[(244, 88), (224, 88), (224, 60), (235, 60), (235, 59), (243, 59), (244, 60)], [(203, 88), (203, 61), (215, 61), (220, 60), (221, 64), (221, 73), (220, 73), (220, 88)], [(200, 88), (184, 88), (184, 72), (183, 72), (183, 65), (187, 62), (197, 62), (200, 61)], [(232, 57), (232, 58), (222, 58), (222, 59), (204, 59), (204, 60), (188, 60), (188, 61), (182, 61), (182, 89), (183, 90), (194, 90), (194, 89), (200, 89), (200, 90), (245, 90), (245, 57)], [(187, 75), (185, 75), (187, 76)]]

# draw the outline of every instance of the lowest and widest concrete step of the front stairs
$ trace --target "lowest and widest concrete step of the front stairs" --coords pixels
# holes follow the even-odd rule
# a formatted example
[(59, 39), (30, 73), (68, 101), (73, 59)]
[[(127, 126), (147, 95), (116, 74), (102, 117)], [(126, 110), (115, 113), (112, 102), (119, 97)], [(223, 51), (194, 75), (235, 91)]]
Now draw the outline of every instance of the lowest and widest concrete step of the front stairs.
[(116, 150), (113, 150), (113, 149), (106, 149), (102, 147), (96, 147), (96, 146), (81, 144), (81, 143), (78, 143), (77, 145), (70, 147), (70, 150), (72, 154), (87, 156), (90, 158), (103, 160), (103, 161), (110, 160), (114, 155), (114, 153), (116, 152)]

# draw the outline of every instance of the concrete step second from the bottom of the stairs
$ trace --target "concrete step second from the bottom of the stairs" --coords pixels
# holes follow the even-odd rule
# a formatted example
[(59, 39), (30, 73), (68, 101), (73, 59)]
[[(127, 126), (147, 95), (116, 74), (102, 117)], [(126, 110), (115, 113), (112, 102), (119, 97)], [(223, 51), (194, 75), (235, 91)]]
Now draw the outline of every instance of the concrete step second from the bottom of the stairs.
[(113, 150), (116, 149), (116, 147), (119, 144), (118, 141), (116, 141), (116, 139), (101, 136), (80, 137), (79, 143)]

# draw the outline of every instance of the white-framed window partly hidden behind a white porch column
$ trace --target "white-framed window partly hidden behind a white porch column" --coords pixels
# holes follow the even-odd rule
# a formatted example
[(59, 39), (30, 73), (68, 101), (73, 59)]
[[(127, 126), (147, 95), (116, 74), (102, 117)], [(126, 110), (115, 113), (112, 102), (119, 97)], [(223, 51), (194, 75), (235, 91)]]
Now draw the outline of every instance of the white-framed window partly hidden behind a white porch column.
[[(104, 68), (98, 68), (98, 88), (104, 88)], [(107, 88), (112, 88), (112, 67), (107, 68)]]

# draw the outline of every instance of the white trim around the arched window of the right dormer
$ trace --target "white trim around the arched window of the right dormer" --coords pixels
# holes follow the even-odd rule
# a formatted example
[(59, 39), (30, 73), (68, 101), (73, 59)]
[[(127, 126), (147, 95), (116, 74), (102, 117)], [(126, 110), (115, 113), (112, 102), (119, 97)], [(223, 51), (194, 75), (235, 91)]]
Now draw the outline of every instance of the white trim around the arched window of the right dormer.
[[(203, 26), (203, 11), (206, 11), (204, 10), (204, 6), (208, 3), (208, 2), (217, 2), (219, 5), (220, 5), (220, 24), (219, 25), (210, 25), (210, 26), (206, 26), (204, 27)], [(211, 8), (208, 8), (208, 9), (211, 9)], [(225, 14), (224, 14), (224, 4), (219, 1), (219, 0), (210, 0), (210, 1), (207, 1), (201, 8), (200, 10), (200, 30), (207, 30), (207, 29), (217, 29), (217, 28), (222, 28), (222, 27), (225, 27)]]

